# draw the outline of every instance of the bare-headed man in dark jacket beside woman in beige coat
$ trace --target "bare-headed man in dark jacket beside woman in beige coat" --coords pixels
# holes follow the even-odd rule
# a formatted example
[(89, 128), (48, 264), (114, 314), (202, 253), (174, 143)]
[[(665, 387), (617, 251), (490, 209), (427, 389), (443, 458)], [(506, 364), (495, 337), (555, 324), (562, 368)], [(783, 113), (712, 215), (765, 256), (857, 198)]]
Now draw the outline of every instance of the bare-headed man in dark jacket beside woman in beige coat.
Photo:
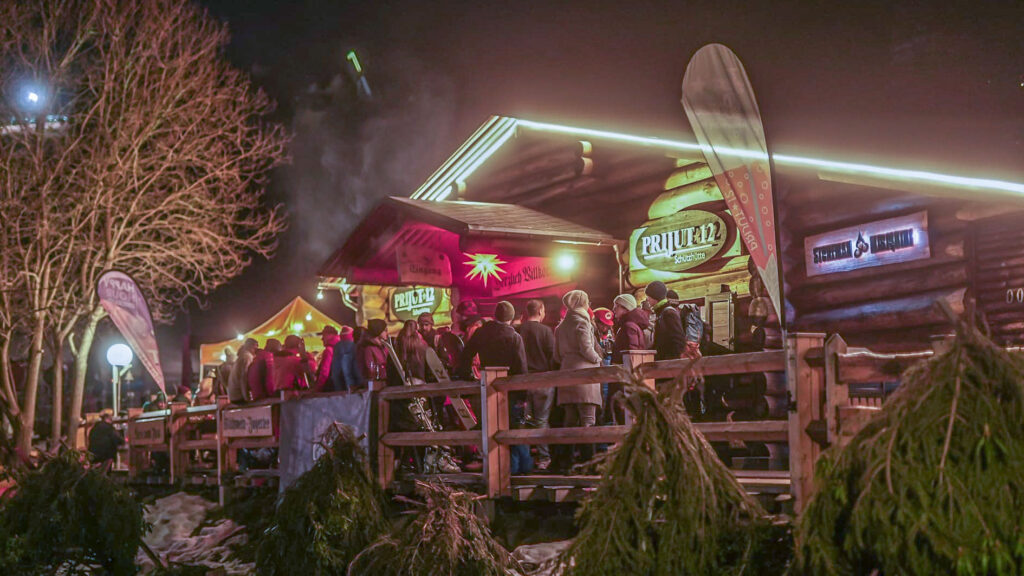
[[(529, 300), (526, 302), (522, 324), (519, 325), (519, 335), (522, 336), (526, 351), (526, 369), (531, 373), (555, 369), (555, 332), (550, 326), (543, 324), (544, 313), (544, 302)], [(554, 404), (554, 387), (529, 390), (529, 405), (537, 427), (550, 426), (551, 408)], [(537, 446), (536, 464), (539, 470), (546, 470), (551, 465), (551, 451), (547, 444)]]

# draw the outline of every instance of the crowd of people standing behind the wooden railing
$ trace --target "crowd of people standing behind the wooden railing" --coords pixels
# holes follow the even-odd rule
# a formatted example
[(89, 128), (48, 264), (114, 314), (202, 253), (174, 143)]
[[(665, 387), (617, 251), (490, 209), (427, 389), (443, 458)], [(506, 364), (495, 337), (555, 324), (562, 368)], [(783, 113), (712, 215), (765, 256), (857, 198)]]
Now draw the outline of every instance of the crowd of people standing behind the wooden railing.
[[(593, 307), (585, 291), (570, 290), (557, 323), (546, 322), (544, 302), (534, 299), (519, 314), (511, 302), (499, 302), (492, 318), (465, 300), (452, 311), (450, 327), (436, 328), (433, 315), (424, 313), (407, 321), (393, 339), (380, 319), (365, 327), (327, 326), (318, 334), (324, 344), (318, 359), (297, 335), (284, 342), (270, 338), (262, 348), (250, 338), (237, 353), (225, 351), (225, 361), (195, 395), (181, 386), (174, 401), (213, 404), (226, 395), (232, 404), (243, 404), (281, 390), (357, 393), (381, 382), (422, 383), (438, 377), (428, 358), (433, 355), (453, 379), (477, 379), (487, 367), (507, 367), (516, 375), (621, 364), (624, 353), (637, 349), (653, 349), (656, 360), (699, 358), (705, 330), (696, 306), (681, 304), (662, 282), (650, 283), (643, 294), (642, 301), (620, 294), (610, 307)], [(541, 428), (623, 423), (622, 409), (610, 402), (621, 386), (594, 382), (513, 395), (513, 420)], [(478, 411), (478, 402), (470, 399), (470, 408)], [(165, 407), (163, 398), (155, 398), (144, 409)], [(434, 410), (445, 425), (460, 425), (451, 402)], [(548, 446), (537, 446), (536, 458), (528, 448), (514, 455), (528, 461), (527, 468), (564, 469), (589, 460), (594, 449), (584, 445), (553, 454)]]

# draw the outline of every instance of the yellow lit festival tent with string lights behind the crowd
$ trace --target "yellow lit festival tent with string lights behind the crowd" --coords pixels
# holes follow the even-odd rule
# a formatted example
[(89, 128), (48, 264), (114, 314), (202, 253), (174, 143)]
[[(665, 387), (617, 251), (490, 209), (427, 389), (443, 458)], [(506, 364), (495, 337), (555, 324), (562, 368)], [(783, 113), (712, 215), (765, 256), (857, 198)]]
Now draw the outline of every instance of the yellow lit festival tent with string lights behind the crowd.
[(252, 330), (239, 334), (236, 338), (222, 342), (201, 344), (199, 346), (200, 365), (213, 366), (223, 362), (224, 348), (231, 346), (239, 349), (246, 338), (254, 338), (259, 342), (260, 347), (266, 344), (268, 338), (276, 338), (284, 342), (285, 337), (295, 334), (302, 337), (306, 342), (306, 351), (318, 353), (324, 349), (324, 343), (317, 335), (325, 326), (341, 328), (341, 322), (334, 320), (321, 311), (314, 308), (312, 304), (297, 296), (281, 310), (271, 316), (266, 322), (253, 328)]

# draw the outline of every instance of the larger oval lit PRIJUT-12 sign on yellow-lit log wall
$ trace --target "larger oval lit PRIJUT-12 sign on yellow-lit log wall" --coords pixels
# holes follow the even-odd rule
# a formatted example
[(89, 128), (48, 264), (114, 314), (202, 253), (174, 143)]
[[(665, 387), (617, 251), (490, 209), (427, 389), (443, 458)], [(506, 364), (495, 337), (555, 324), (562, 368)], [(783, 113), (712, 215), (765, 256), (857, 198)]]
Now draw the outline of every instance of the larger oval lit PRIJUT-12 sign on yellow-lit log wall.
[(630, 257), (640, 266), (663, 272), (690, 270), (726, 248), (726, 221), (714, 212), (683, 210), (637, 229), (630, 237)]

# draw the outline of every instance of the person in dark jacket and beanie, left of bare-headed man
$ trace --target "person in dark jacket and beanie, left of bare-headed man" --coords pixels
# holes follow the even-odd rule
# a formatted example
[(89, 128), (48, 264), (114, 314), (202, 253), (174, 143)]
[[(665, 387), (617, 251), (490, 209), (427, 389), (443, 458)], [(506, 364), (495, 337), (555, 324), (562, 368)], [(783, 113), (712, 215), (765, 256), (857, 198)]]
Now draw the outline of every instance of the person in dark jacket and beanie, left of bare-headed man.
[(515, 307), (512, 302), (498, 302), (495, 320), (485, 322), (466, 341), (456, 370), (460, 376), (472, 379), (473, 358), (477, 356), (480, 358), (481, 368), (505, 366), (509, 369), (509, 375), (513, 376), (527, 372), (526, 348), (522, 337), (512, 328), (513, 318)]

